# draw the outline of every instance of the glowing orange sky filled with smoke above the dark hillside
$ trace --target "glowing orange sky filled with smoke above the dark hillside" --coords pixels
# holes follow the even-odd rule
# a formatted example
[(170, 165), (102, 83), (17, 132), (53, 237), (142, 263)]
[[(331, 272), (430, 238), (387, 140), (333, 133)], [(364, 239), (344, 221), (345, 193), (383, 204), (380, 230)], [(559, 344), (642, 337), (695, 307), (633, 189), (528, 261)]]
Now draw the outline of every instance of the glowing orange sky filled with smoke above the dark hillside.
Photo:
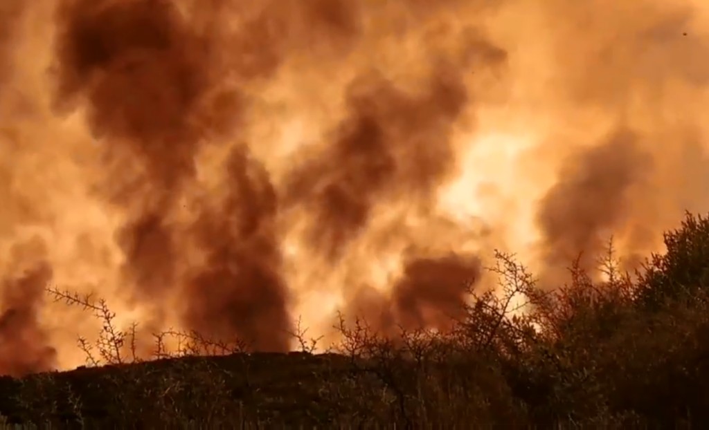
[(631, 267), (709, 210), (708, 90), (702, 0), (3, 0), (0, 373), (83, 363), (47, 285), (286, 351), (493, 249)]

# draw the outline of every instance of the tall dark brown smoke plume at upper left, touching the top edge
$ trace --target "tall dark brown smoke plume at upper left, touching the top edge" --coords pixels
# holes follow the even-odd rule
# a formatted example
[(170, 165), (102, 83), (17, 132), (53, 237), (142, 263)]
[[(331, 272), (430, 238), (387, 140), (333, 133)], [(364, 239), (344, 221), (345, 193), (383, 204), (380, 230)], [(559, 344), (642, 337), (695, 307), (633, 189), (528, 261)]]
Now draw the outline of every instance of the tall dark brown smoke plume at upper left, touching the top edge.
[(57, 15), (57, 105), (86, 100), (104, 157), (118, 160), (106, 191), (138, 206), (118, 232), (125, 270), (148, 295), (171, 288), (167, 213), (195, 172), (201, 130), (192, 121), (210, 89), (208, 46), (167, 1), (71, 1)]

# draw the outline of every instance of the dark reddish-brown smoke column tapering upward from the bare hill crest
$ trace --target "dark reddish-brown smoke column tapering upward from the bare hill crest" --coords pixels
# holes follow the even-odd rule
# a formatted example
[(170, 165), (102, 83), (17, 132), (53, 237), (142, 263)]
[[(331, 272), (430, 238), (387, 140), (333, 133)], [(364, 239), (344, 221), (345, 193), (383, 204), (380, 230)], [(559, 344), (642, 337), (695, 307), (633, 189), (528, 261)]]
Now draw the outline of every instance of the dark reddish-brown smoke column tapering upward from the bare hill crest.
[(240, 147), (226, 168), (227, 198), (194, 226), (208, 256), (206, 267), (189, 280), (186, 320), (217, 339), (236, 336), (259, 351), (287, 351), (292, 330), (274, 235), (276, 191), (267, 171)]

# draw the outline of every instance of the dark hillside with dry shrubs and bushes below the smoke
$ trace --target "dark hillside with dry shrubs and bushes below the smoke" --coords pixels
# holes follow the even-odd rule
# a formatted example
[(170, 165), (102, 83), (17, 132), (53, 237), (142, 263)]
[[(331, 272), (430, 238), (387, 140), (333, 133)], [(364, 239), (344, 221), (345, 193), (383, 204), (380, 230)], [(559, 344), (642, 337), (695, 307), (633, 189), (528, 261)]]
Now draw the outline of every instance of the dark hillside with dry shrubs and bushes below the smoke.
[[(698, 426), (709, 422), (709, 220), (687, 215), (665, 243), (635, 276), (608, 259), (608, 281), (573, 266), (572, 282), (555, 290), (499, 254), (501, 296), (474, 295), (447, 334), (384, 337), (343, 323), (339, 353), (0, 378), (0, 414), (91, 428)], [(523, 316), (507, 300), (520, 293), (532, 306)]]

